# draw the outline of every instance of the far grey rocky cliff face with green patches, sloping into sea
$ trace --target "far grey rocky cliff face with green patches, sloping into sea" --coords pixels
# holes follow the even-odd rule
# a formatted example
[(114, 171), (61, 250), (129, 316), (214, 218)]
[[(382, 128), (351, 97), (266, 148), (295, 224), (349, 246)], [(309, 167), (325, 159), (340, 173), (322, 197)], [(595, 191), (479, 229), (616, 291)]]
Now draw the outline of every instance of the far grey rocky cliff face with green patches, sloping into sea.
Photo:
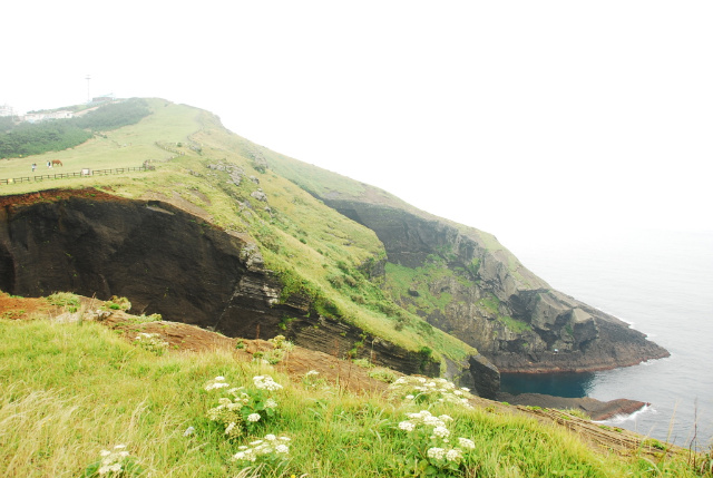
[[(390, 281), (387, 264), (397, 302), (501, 372), (592, 371), (668, 355), (618, 319), (553, 290), (495, 237), (388, 204), (322, 199), (377, 233), (392, 274), (401, 275)], [(399, 289), (404, 276), (411, 283)], [(440, 306), (423, 306), (424, 295)]]

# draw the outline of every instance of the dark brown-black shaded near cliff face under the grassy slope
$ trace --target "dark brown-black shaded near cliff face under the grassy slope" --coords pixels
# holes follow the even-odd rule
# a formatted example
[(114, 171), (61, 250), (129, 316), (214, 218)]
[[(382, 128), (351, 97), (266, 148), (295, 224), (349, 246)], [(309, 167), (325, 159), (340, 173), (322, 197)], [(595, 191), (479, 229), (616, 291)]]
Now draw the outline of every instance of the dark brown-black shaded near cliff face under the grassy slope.
[[(227, 336), (284, 334), (304, 348), (336, 357), (352, 351), (404, 373), (440, 372), (428, 357), (320, 316), (306, 297), (281, 300), (282, 284), (254, 244), (158, 201), (96, 189), (0, 198), (0, 289), (126, 296), (134, 313), (160, 313)], [(488, 384), (481, 394), (494, 397), (499, 375), (472, 377), (478, 370), (465, 361), (452, 375), (465, 386)]]

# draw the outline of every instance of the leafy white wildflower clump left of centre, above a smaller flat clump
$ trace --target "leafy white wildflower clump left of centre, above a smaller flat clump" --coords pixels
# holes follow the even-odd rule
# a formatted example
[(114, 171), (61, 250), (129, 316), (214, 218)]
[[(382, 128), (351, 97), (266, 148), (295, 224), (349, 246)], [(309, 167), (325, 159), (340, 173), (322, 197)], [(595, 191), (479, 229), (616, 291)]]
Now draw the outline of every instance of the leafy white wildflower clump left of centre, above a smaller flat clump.
[(216, 377), (205, 386), (205, 390), (227, 389), (227, 397), (218, 399), (218, 406), (208, 410), (211, 420), (225, 426), (225, 435), (236, 438), (245, 430), (253, 430), (262, 426), (265, 420), (275, 414), (277, 401), (272, 397), (272, 392), (281, 390), (282, 386), (276, 383), (272, 377), (257, 375), (253, 378), (254, 389), (245, 387), (231, 388), (224, 377)]

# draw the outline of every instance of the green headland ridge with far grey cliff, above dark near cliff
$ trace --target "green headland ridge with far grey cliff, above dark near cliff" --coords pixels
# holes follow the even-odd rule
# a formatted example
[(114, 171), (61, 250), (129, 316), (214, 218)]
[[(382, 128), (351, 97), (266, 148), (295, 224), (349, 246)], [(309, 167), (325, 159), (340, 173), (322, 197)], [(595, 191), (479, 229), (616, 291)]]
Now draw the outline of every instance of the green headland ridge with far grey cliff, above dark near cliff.
[[(365, 354), (367, 341), (380, 338), (443, 370), (448, 361), (467, 368), (475, 349), (502, 370), (533, 372), (600, 370), (668, 354), (616, 318), (553, 290), (491, 234), (257, 146), (209, 113), (148, 104), (153, 114), (138, 124), (58, 157), (62, 170), (147, 160), (155, 170), (51, 187), (95, 186), (168, 202), (256, 244), (260, 262), (279, 277), (280, 300), (303, 311), (304, 320), (283, 318), (287, 334), (319, 328), (319, 315), (365, 334), (339, 344), (351, 354)], [(0, 177), (45, 157), (3, 162)], [(43, 186), (10, 185), (3, 193)], [(328, 348), (325, 335), (304, 340)]]

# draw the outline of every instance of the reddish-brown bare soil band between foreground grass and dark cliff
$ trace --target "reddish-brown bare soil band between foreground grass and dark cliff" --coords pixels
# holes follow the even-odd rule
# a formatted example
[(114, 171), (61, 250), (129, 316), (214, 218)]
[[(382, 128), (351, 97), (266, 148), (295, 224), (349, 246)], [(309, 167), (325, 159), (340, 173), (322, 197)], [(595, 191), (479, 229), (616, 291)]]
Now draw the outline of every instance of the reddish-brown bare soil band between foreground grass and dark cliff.
[[(85, 310), (96, 310), (102, 302), (82, 297)], [(67, 320), (69, 314), (60, 308), (50, 305), (46, 299), (13, 297), (0, 292), (0, 316), (11, 320)], [(157, 333), (169, 343), (169, 350), (188, 353), (224, 350), (232, 353), (236, 361), (250, 362), (256, 352), (266, 352), (274, 348), (264, 340), (231, 339), (219, 333), (199, 329), (178, 322), (158, 321), (137, 323), (134, 315), (121, 311), (101, 321), (106, 326), (120, 332), (126, 340), (131, 341), (140, 332)], [(242, 348), (236, 348), (238, 341)], [(320, 373), (320, 378), (354, 393), (385, 394), (388, 384), (369, 377), (369, 370), (352, 362), (336, 359), (326, 353), (294, 347), (275, 369), (285, 372), (292, 381), (300, 382), (310, 370)], [(395, 375), (401, 375), (393, 372)], [(480, 407), (492, 413), (522, 413), (535, 418), (541, 423), (561, 426), (576, 433), (594, 450), (604, 453), (615, 452), (621, 456), (641, 456), (661, 458), (663, 453), (687, 453), (678, 447), (648, 440), (646, 437), (617, 427), (607, 427), (570, 416), (560, 410), (539, 407), (510, 406), (498, 401), (475, 397), (475, 407)], [(662, 450), (662, 445), (665, 449)]]

